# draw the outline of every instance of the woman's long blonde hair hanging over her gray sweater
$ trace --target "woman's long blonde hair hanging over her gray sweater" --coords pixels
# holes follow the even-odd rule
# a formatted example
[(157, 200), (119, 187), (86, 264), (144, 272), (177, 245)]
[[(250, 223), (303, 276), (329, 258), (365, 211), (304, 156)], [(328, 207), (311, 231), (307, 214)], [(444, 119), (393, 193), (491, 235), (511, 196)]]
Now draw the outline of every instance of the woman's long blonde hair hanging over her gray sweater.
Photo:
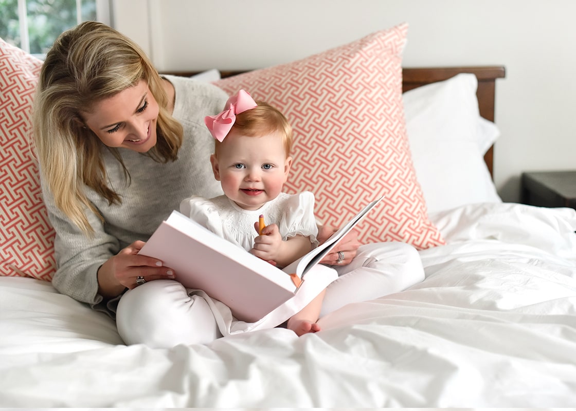
[(111, 27), (84, 22), (62, 33), (46, 55), (33, 102), (33, 139), (40, 169), (56, 207), (84, 233), (93, 233), (86, 212), (102, 219), (86, 197), (93, 189), (120, 204), (118, 192), (108, 187), (102, 150), (126, 167), (118, 149), (105, 146), (84, 124), (81, 113), (97, 102), (146, 81), (160, 107), (157, 143), (148, 153), (155, 161), (177, 158), (183, 129), (167, 111), (162, 80), (142, 49)]

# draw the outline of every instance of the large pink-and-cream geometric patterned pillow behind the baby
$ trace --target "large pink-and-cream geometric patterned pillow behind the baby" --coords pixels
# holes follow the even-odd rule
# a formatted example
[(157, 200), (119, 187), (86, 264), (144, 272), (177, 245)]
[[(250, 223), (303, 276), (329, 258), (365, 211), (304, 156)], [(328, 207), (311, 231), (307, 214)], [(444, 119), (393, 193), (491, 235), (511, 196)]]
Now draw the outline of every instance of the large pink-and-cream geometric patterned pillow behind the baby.
[(292, 63), (225, 78), (281, 109), (294, 128), (285, 191), (309, 190), (316, 216), (340, 226), (370, 200), (386, 198), (358, 225), (363, 243), (444, 244), (416, 181), (402, 105), (407, 24)]

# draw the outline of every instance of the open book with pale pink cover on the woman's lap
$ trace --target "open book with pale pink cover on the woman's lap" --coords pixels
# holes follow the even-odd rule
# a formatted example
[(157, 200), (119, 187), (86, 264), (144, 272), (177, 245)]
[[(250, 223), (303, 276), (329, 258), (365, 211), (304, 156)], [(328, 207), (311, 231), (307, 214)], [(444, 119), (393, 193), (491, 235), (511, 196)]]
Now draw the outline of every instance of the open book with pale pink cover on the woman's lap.
[[(279, 269), (207, 230), (178, 211), (154, 231), (139, 254), (162, 260), (186, 288), (205, 291), (230, 307), (234, 317), (255, 322), (282, 305), (298, 290), (306, 272), (330, 252), (383, 196), (367, 204), (327, 241)], [(290, 276), (292, 275), (292, 276)]]

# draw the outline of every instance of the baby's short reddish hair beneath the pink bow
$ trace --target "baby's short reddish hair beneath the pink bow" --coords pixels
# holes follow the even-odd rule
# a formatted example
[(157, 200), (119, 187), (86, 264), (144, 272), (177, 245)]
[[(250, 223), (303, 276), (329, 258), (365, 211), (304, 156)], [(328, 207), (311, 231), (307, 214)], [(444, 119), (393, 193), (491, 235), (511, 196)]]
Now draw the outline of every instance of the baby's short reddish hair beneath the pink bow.
[[(292, 150), (293, 131), (286, 116), (274, 106), (264, 101), (256, 101), (257, 106), (236, 115), (234, 125), (229, 131), (236, 131), (245, 136), (260, 137), (273, 132), (282, 136), (282, 144), (286, 157)], [(223, 140), (225, 142), (226, 139)], [(218, 146), (222, 144), (215, 140), (214, 154), (218, 156)]]

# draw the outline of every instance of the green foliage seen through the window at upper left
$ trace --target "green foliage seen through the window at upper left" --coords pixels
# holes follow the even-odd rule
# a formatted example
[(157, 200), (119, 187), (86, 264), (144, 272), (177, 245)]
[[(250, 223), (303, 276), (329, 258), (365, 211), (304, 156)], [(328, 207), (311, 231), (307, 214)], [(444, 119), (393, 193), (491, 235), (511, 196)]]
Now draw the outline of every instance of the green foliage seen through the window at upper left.
[[(76, 0), (26, 0), (30, 52), (44, 54), (60, 33), (74, 27)], [(82, 21), (96, 20), (96, 0), (82, 0)], [(0, 0), (0, 37), (22, 47), (18, 0)]]

